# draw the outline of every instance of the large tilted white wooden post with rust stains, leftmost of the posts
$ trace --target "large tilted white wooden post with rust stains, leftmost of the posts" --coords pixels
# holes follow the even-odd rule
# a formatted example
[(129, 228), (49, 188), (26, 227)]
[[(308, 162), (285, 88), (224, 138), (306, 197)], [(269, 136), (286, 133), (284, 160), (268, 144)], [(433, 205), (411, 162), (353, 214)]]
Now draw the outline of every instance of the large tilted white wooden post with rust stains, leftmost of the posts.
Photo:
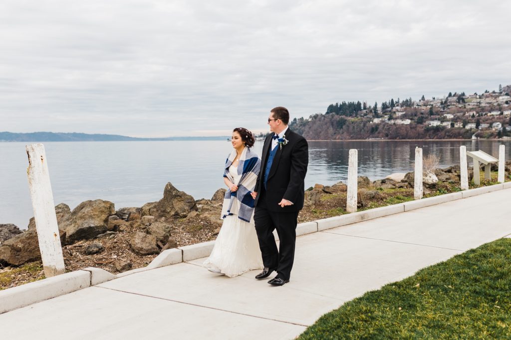
[(44, 275), (51, 277), (65, 272), (60, 234), (55, 215), (48, 162), (44, 145), (32, 144), (26, 146), (29, 156), (27, 175), (29, 179), (30, 196), (34, 208), (34, 218), (41, 251)]

